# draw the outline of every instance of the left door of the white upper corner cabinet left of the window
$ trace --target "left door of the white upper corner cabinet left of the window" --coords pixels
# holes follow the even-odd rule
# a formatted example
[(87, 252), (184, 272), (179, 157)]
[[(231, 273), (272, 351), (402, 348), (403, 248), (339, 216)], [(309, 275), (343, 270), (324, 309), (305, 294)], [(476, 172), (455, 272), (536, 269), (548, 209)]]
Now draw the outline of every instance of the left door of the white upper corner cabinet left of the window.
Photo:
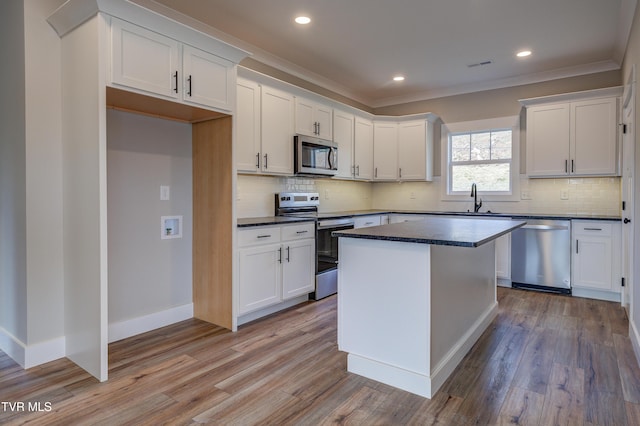
[(373, 179), (398, 178), (398, 123), (373, 123)]

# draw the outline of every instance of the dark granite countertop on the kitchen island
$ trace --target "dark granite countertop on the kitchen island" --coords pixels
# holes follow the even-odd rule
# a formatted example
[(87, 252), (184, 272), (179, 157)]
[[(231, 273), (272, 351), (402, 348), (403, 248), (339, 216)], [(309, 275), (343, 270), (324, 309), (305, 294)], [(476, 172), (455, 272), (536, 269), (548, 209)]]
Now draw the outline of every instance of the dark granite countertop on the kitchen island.
[(478, 247), (525, 225), (521, 220), (473, 220), (430, 217), (424, 220), (336, 231), (338, 237), (401, 241), (459, 247)]

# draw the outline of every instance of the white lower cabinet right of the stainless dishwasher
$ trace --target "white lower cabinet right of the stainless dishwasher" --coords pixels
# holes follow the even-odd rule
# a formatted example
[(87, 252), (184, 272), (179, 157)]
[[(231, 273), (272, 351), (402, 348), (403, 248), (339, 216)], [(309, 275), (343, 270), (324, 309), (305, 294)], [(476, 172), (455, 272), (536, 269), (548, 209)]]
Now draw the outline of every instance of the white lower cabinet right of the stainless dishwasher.
[(572, 221), (572, 293), (619, 300), (620, 224)]

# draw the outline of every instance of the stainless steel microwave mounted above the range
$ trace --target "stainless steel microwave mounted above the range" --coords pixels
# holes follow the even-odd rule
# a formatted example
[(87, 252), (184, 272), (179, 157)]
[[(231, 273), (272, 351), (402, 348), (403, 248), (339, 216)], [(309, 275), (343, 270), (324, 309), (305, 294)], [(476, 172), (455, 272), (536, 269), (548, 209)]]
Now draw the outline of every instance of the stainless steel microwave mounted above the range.
[(295, 174), (333, 176), (337, 173), (337, 143), (310, 136), (295, 135), (293, 146)]

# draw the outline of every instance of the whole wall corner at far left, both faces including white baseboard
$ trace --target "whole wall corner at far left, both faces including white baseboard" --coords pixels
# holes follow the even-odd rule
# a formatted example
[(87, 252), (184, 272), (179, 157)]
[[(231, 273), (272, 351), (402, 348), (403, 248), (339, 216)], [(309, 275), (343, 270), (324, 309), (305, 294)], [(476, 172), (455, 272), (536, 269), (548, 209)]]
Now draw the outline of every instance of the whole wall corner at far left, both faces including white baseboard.
[(62, 2), (0, 4), (0, 348), (26, 367), (64, 355)]

